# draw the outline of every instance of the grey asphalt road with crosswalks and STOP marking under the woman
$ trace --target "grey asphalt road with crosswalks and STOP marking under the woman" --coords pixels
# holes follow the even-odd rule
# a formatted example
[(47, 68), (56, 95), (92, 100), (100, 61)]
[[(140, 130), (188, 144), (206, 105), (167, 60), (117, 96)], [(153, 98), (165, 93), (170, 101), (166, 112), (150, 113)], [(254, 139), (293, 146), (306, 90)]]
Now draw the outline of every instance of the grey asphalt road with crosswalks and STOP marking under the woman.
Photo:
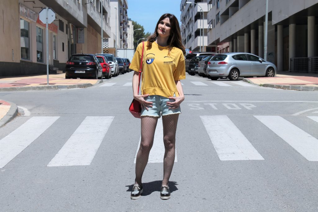
[(0, 128), (0, 211), (318, 210), (317, 92), (190, 75), (171, 199), (159, 196), (158, 126), (144, 193), (131, 200), (140, 140), (131, 80), (132, 72), (85, 89), (0, 92), (28, 110)]

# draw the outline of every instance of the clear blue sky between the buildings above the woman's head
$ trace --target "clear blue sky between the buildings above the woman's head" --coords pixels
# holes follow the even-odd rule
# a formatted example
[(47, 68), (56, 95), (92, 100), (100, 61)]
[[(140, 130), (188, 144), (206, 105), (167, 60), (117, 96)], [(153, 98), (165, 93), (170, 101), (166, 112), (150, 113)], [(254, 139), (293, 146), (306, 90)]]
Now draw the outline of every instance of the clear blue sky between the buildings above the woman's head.
[(158, 19), (164, 13), (174, 14), (180, 22), (181, 0), (128, 0), (128, 18), (153, 33)]

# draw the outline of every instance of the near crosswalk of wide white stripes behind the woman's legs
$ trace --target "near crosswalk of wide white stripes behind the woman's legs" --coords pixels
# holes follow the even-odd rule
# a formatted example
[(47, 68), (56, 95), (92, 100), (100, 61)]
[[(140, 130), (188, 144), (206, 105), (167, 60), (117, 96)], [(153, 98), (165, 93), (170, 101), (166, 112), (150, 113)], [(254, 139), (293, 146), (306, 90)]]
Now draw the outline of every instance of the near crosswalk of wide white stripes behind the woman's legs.
[[(251, 117), (264, 126), (262, 130), (266, 133), (276, 134), (281, 141), (286, 142), (290, 148), (296, 150), (299, 154), (295, 152), (294, 157), (302, 157), (308, 161), (318, 161), (318, 139), (315, 137), (317, 135), (305, 132), (300, 126), (289, 122), (286, 117), (269, 115), (254, 115)], [(107, 140), (107, 131), (116, 118), (116, 116), (87, 116), (84, 118), (72, 135), (62, 142), (64, 145), (59, 147), (59, 151), (53, 154), (50, 153), (55, 156), (52, 156), (47, 166), (90, 165), (101, 143), (111, 142)], [(58, 119), (59, 116), (34, 116), (7, 136), (0, 138), (0, 168), (3, 168), (10, 161), (14, 160), (22, 151), (28, 151), (28, 146), (39, 137), (45, 136), (44, 132), (53, 127), (52, 125)], [(120, 118), (118, 117), (118, 119)], [(300, 119), (302, 123), (306, 122), (308, 125), (318, 127), (318, 116), (300, 116)], [(226, 115), (203, 115), (198, 116), (198, 121), (202, 123), (202, 131), (200, 133), (203, 135), (206, 134), (206, 138), (210, 140), (207, 140), (206, 144), (209, 142), (212, 143), (220, 161), (257, 161), (268, 159), (262, 156), (264, 153), (260, 153), (253, 146), (248, 140), (248, 136), (234, 124), (235, 122), (230, 117)], [(259, 128), (251, 125), (249, 130), (257, 132)], [(137, 140), (138, 137), (135, 139)], [(159, 119), (154, 145), (149, 154), (149, 163), (163, 162), (164, 146), (162, 140), (162, 120)], [(184, 142), (177, 142), (177, 144), (184, 145)], [(135, 146), (135, 151), (132, 152), (132, 162), (136, 160), (139, 146), (140, 138), (138, 145), (136, 144)], [(131, 150), (128, 152), (131, 152)], [(175, 157), (175, 162), (177, 162), (177, 154)]]

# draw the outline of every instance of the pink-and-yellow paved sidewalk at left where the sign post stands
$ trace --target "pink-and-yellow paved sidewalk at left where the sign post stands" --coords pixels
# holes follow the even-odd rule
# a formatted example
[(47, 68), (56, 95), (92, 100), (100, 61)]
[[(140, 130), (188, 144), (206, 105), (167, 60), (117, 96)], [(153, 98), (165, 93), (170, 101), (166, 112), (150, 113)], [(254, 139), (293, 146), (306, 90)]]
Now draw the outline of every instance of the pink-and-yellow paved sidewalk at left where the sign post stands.
[(102, 83), (101, 79), (65, 79), (65, 73), (0, 78), (0, 91), (32, 91), (85, 88)]

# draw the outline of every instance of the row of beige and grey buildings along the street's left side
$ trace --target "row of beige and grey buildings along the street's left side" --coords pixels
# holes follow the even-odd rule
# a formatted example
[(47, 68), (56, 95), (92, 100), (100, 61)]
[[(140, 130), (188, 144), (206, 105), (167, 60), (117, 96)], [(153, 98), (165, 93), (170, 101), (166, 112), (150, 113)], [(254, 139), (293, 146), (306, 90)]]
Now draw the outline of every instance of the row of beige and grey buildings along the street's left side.
[[(118, 10), (111, 6), (114, 2)], [(39, 12), (45, 7), (56, 16), (48, 26), (50, 73), (63, 71), (74, 53), (115, 53), (116, 47), (127, 46), (127, 29), (121, 27), (121, 22), (128, 25), (124, 21), (128, 19), (126, 0), (2, 0), (0, 76), (46, 73), (46, 25), (39, 20)], [(111, 24), (115, 11), (117, 30)], [(108, 46), (106, 39), (110, 40)]]

